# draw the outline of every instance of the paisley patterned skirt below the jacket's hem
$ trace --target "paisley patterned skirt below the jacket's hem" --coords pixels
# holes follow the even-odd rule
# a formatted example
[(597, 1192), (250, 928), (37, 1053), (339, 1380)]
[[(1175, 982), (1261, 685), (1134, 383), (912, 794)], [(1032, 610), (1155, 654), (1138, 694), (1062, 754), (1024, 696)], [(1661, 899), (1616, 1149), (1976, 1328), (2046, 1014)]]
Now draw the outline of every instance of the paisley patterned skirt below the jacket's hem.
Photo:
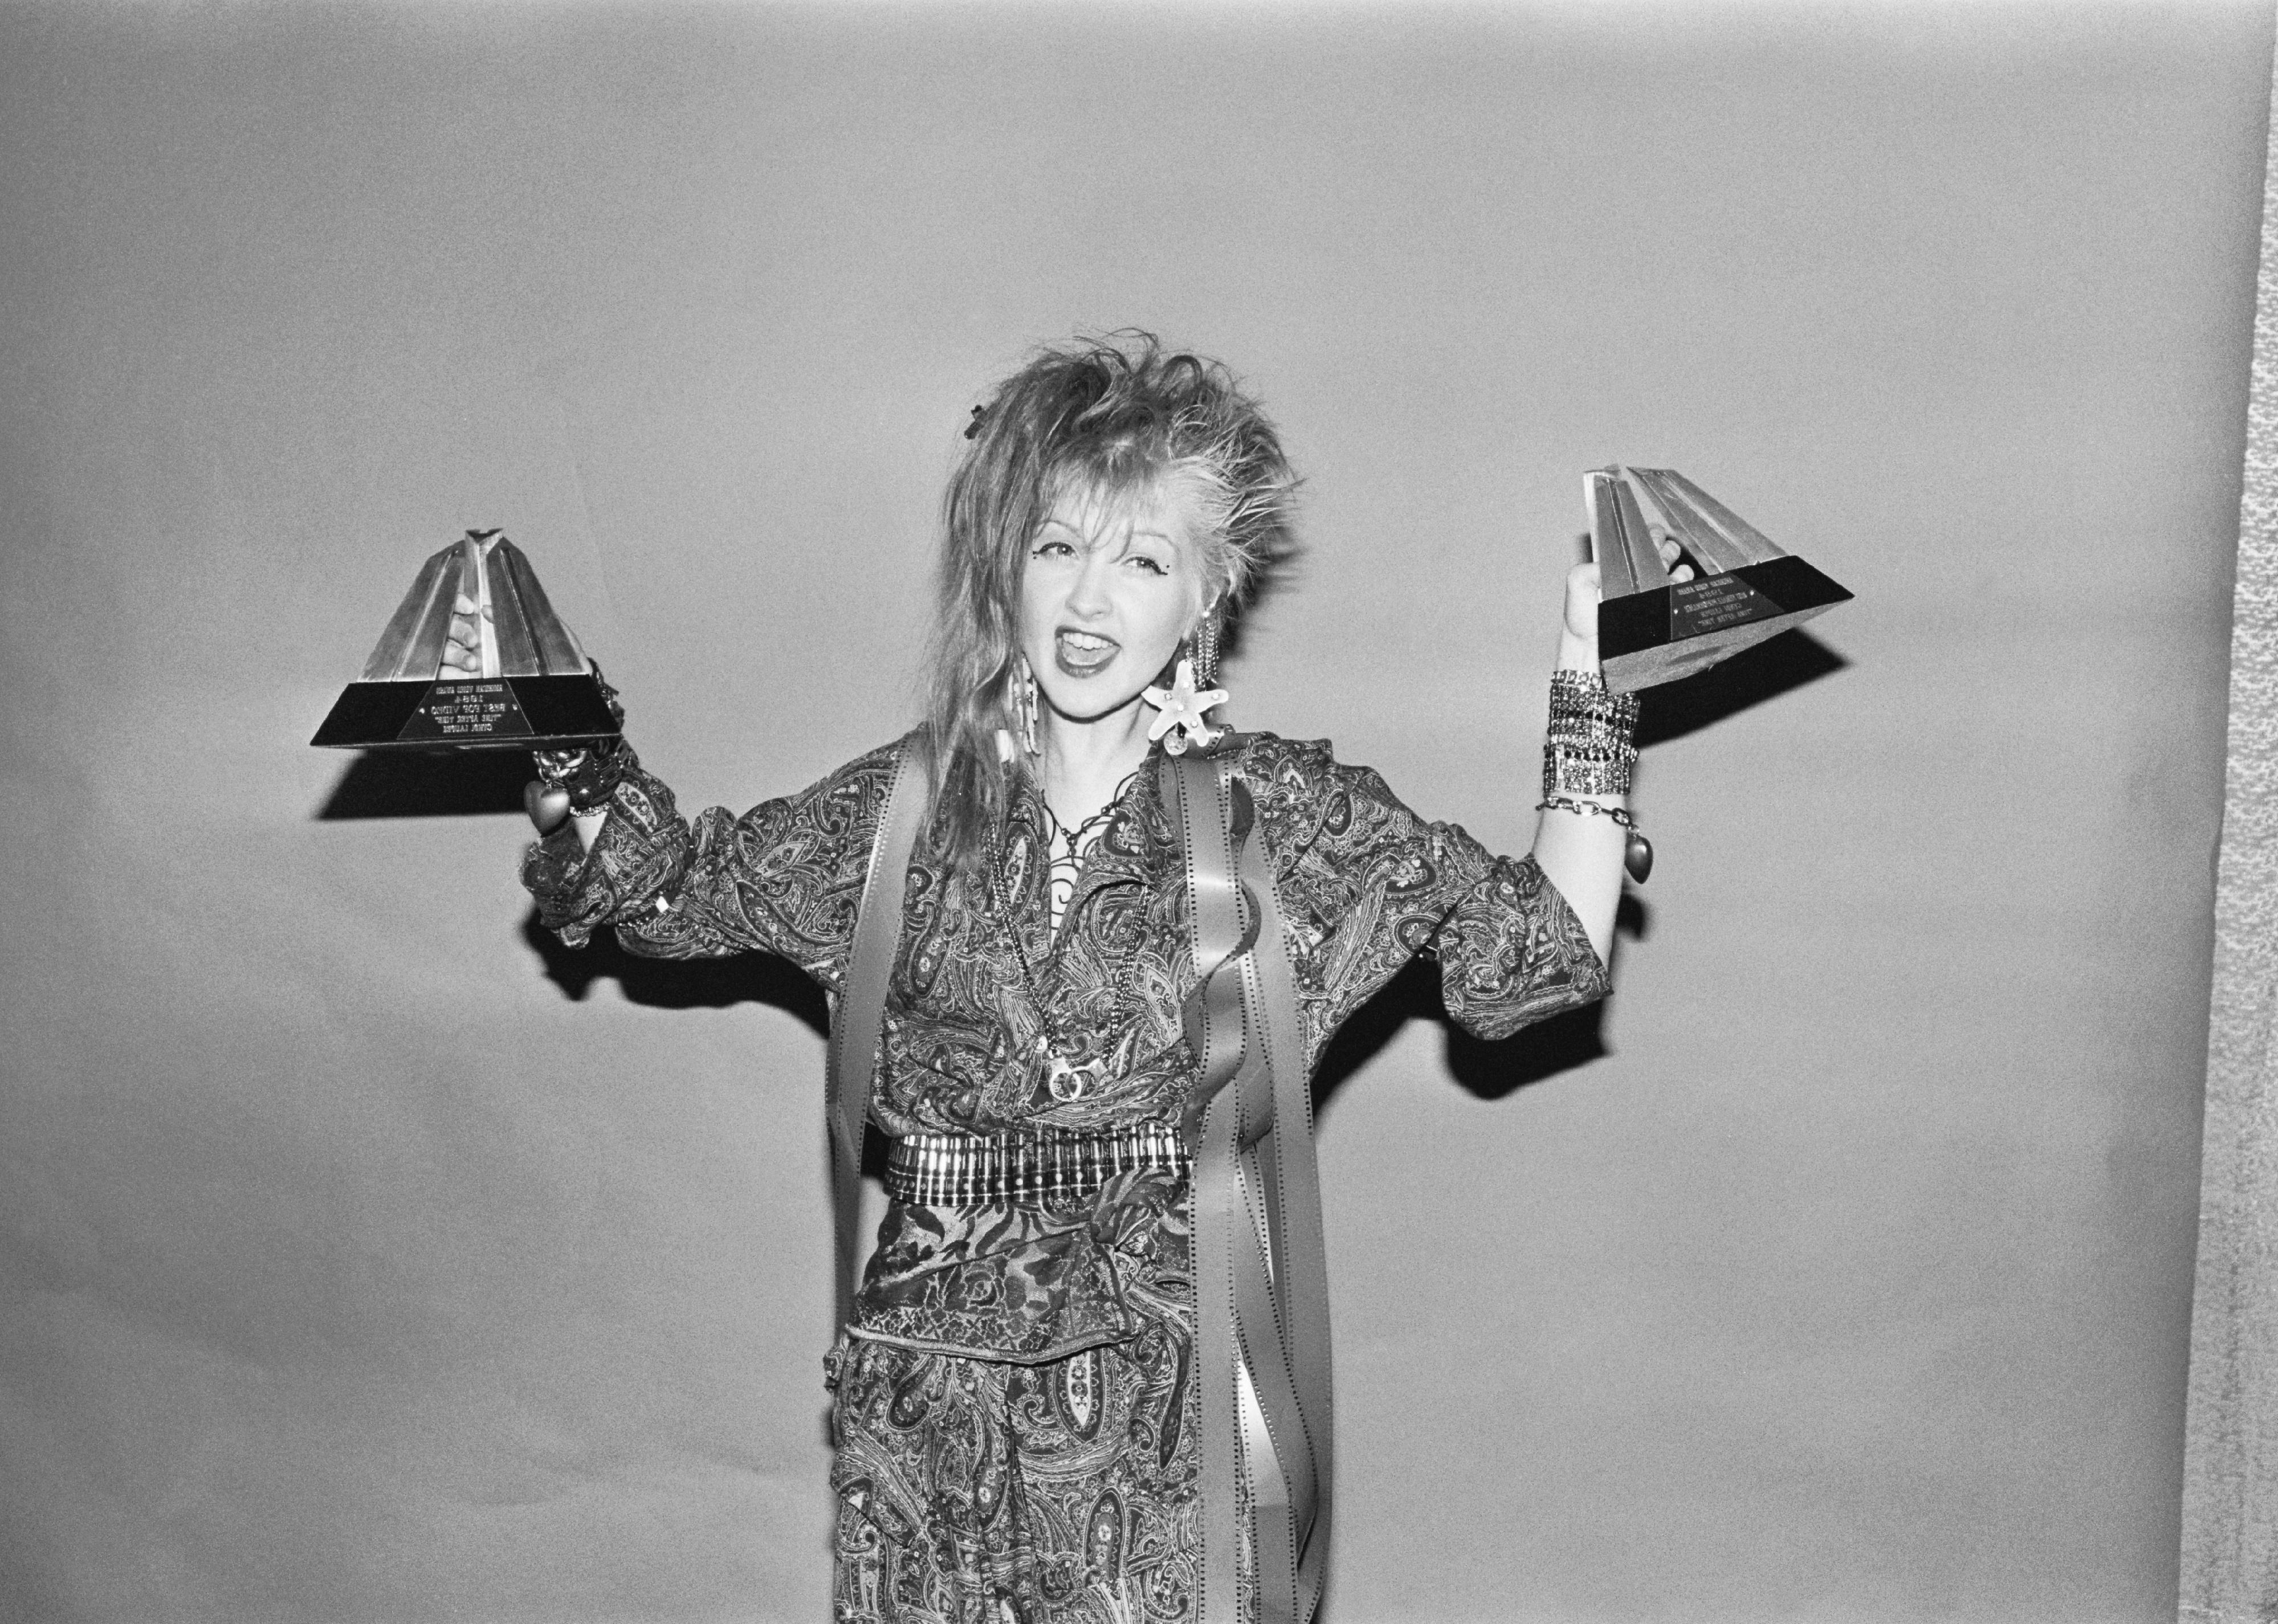
[(1128, 1342), (1046, 1364), (854, 1337), (834, 1387), (836, 1624), (1196, 1615), (1201, 1408), (1187, 1314), (1150, 1314)]

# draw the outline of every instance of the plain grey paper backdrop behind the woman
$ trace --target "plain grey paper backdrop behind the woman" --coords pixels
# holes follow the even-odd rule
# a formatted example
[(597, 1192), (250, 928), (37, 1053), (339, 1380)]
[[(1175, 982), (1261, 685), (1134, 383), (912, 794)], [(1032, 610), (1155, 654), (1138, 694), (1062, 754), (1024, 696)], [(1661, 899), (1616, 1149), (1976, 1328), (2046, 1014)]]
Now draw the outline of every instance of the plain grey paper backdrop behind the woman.
[(0, 11), (0, 1613), (816, 1619), (820, 1000), (567, 954), (305, 747), (531, 553), (688, 806), (916, 708), (1027, 346), (1308, 471), (1237, 715), (1529, 840), (1579, 476), (1859, 601), (1649, 702), (1592, 1020), (1321, 1109), (1333, 1617), (2175, 1585), (2271, 14)]

